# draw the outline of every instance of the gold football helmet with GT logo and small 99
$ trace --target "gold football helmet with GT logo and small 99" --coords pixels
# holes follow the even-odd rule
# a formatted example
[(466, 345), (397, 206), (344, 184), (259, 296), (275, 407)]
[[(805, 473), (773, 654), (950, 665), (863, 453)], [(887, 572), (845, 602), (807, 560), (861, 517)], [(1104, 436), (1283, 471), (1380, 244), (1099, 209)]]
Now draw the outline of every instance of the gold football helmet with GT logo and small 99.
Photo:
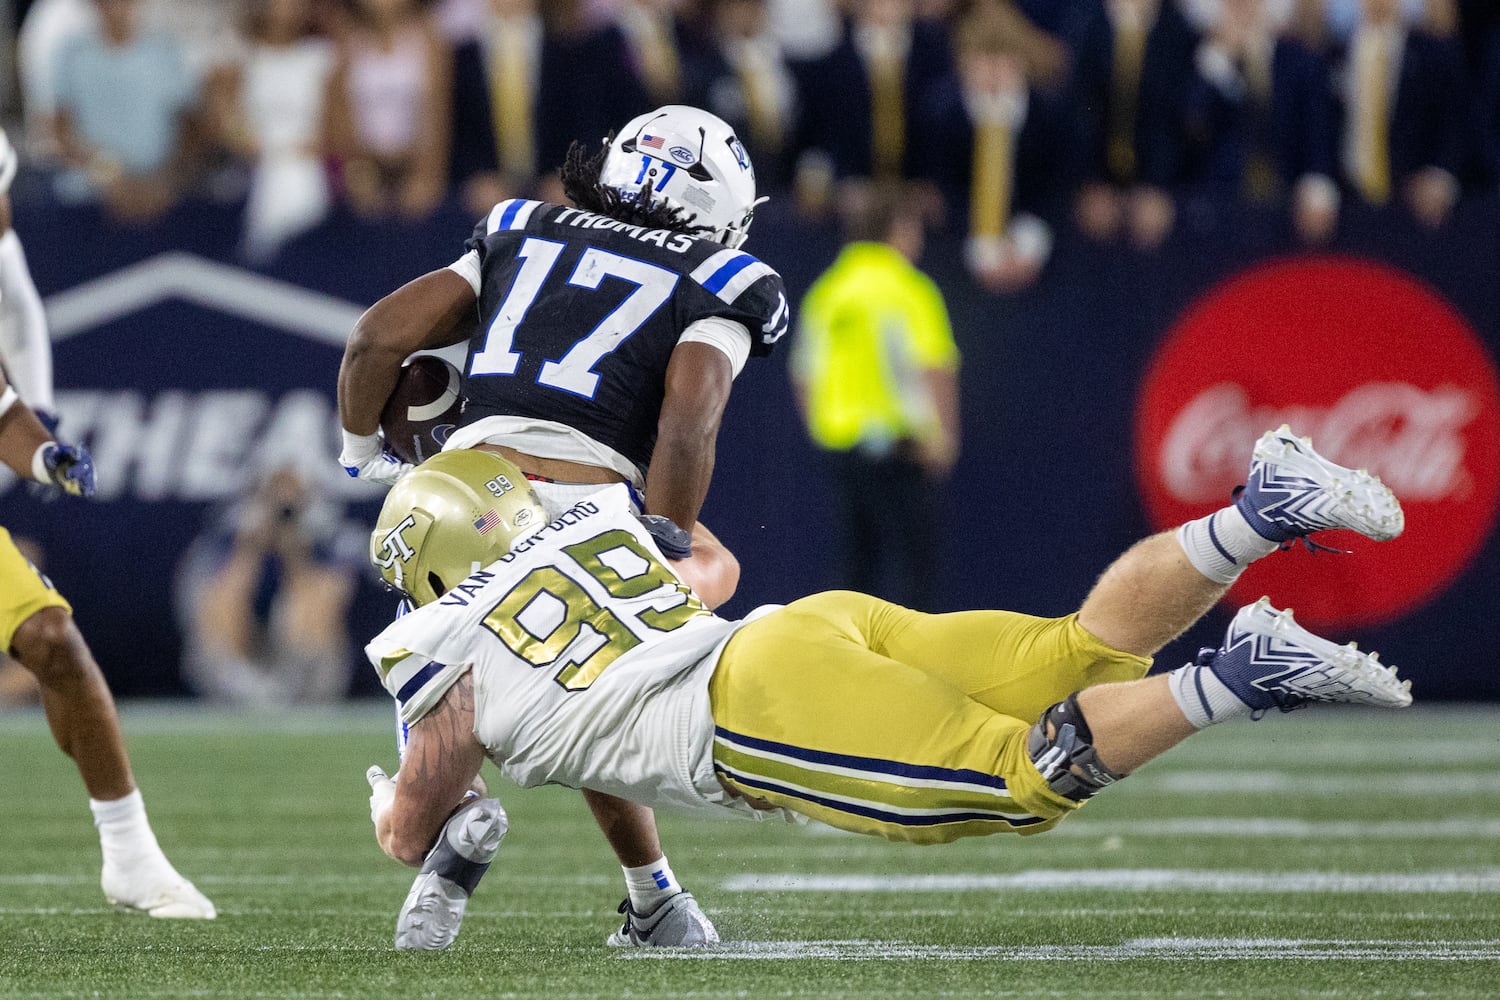
[(548, 523), (531, 483), (490, 451), (442, 451), (400, 477), (370, 532), (370, 562), (417, 607)]

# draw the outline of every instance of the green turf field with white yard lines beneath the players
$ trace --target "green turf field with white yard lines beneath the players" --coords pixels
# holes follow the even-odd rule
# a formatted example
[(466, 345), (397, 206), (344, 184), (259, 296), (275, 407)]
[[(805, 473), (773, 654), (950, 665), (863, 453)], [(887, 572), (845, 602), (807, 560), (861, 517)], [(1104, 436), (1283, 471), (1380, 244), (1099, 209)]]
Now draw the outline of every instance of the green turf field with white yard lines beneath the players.
[(386, 706), (124, 723), (220, 916), (106, 909), (70, 763), (39, 714), (0, 715), (0, 997), (1500, 996), (1500, 711), (1224, 726), (1030, 840), (664, 817), (724, 937), (688, 955), (606, 949), (622, 886), (582, 801), (498, 778), (510, 835), (458, 945), (396, 954), (411, 879), (363, 778), (393, 765)]

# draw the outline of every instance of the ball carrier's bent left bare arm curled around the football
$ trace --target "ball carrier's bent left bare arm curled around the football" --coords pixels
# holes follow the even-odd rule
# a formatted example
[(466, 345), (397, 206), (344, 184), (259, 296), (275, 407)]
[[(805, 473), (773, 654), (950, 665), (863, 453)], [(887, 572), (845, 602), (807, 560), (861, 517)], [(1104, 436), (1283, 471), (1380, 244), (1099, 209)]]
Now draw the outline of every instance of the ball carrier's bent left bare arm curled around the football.
[(466, 340), (477, 321), (474, 289), (447, 268), (410, 280), (370, 306), (354, 324), (339, 364), (344, 429), (375, 433), (402, 361)]

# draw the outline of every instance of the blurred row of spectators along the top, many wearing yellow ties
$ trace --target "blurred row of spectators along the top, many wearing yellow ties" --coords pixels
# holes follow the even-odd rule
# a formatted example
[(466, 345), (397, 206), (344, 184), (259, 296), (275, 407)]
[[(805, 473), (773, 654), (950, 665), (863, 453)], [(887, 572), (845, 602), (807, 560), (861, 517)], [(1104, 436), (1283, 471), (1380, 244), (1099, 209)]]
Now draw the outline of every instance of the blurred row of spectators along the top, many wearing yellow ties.
[(1440, 226), (1500, 187), (1494, 0), (32, 0), (48, 196), (148, 222), (243, 198), (270, 258), (333, 207), (561, 199), (573, 139), (660, 103), (736, 127), (796, 211), (910, 183), (994, 291), (1058, 226), (1149, 252), (1194, 204)]

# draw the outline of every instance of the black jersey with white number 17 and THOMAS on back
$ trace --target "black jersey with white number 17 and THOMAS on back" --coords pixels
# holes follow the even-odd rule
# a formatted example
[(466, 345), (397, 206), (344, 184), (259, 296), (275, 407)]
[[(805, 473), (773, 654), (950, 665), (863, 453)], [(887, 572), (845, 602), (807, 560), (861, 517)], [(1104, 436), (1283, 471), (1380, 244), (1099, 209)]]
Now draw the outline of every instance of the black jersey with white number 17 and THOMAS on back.
[(453, 270), (478, 295), (480, 325), (462, 426), (555, 421), (642, 471), (682, 334), (706, 322), (748, 339), (738, 370), (746, 354), (770, 354), (790, 321), (782, 276), (754, 256), (580, 208), (502, 201), (466, 246)]

